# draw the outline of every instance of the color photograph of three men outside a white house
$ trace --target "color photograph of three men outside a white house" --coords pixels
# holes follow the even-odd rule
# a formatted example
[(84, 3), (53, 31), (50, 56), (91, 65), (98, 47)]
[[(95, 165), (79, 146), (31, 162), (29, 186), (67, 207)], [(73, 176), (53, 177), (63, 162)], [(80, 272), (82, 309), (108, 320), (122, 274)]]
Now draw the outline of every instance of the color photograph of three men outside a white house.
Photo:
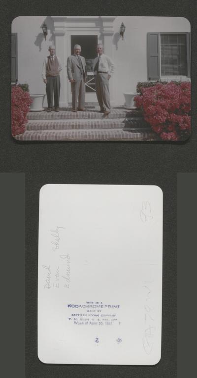
[(20, 16), (12, 21), (17, 141), (186, 141), (190, 22), (184, 17)]

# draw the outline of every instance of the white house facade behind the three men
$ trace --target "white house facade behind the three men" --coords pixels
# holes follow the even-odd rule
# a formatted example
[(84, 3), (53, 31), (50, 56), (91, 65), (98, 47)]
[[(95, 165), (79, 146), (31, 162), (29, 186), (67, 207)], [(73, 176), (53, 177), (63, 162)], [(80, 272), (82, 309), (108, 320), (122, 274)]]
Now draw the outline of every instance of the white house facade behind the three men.
[[(47, 25), (46, 41), (42, 32)], [(120, 26), (126, 29), (124, 38)], [(30, 94), (44, 94), (41, 77), (44, 58), (53, 45), (62, 62), (60, 106), (71, 102), (66, 60), (74, 44), (82, 47), (88, 68), (86, 102), (97, 103), (93, 60), (96, 46), (115, 63), (110, 79), (110, 99), (124, 105), (124, 93), (135, 93), (138, 82), (190, 81), (190, 23), (182, 17), (38, 16), (17, 17), (12, 22), (12, 83), (28, 84)], [(47, 106), (45, 99), (45, 106)]]

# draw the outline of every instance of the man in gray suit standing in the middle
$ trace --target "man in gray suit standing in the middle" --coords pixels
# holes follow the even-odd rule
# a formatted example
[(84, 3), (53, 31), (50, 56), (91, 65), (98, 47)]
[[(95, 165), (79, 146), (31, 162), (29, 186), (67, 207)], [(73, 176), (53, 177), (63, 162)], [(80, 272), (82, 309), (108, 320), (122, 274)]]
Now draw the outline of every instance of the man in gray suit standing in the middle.
[[(84, 111), (85, 106), (85, 82), (87, 76), (86, 61), (80, 56), (81, 46), (74, 46), (74, 54), (67, 58), (67, 75), (72, 90), (72, 111)], [(77, 109), (77, 98), (79, 101)]]

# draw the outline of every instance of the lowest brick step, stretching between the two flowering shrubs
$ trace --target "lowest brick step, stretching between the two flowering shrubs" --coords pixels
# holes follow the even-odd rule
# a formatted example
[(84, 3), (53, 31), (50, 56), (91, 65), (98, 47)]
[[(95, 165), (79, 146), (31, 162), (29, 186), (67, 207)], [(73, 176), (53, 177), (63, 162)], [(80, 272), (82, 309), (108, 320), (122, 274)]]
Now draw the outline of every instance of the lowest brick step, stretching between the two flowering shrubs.
[(154, 141), (152, 131), (113, 130), (44, 130), (16, 135), (18, 141)]

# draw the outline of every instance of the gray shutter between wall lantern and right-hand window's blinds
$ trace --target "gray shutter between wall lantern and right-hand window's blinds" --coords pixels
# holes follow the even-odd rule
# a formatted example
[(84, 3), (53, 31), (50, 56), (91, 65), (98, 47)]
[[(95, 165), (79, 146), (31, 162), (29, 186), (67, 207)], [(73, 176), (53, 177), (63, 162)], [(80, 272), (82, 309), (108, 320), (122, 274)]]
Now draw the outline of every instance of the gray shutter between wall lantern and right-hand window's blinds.
[(147, 34), (147, 73), (148, 80), (160, 79), (160, 34)]

